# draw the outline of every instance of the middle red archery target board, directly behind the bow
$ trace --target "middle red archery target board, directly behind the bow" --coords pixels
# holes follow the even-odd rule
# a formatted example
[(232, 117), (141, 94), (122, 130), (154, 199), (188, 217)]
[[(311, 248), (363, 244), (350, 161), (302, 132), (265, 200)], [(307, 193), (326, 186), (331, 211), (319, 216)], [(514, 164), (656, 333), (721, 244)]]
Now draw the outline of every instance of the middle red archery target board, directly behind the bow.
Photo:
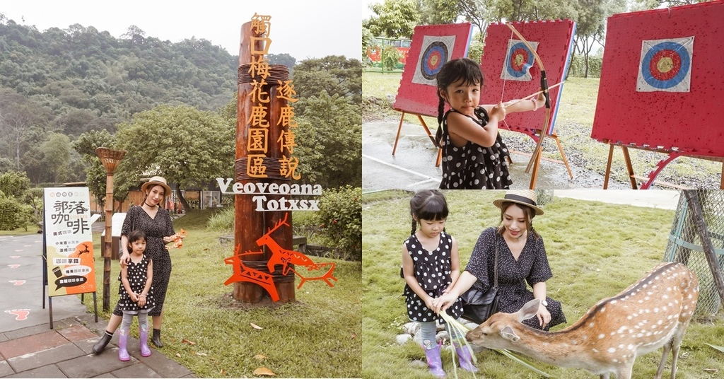
[[(513, 26), (543, 61), (548, 85), (559, 83), (568, 68), (576, 23), (571, 20), (534, 21), (513, 22)], [(480, 68), (484, 80), (481, 104), (521, 99), (540, 91), (540, 67), (528, 46), (505, 24), (493, 23), (488, 27)], [(562, 88), (550, 90), (549, 133), (553, 133)], [(539, 109), (536, 112), (510, 113), (505, 116), (505, 122), (511, 130), (529, 134), (528, 130), (542, 128), (544, 112), (544, 109)], [(505, 129), (505, 124), (501, 124), (500, 128)]]

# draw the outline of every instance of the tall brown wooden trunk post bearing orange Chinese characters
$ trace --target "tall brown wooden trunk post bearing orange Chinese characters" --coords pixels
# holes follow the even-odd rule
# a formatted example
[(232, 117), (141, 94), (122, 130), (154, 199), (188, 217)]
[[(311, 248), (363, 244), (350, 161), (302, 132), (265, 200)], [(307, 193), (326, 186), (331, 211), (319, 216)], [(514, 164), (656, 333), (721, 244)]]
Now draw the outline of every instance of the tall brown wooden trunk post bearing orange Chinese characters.
[[(269, 77), (266, 79), (261, 78), (260, 75), (251, 75), (249, 72), (250, 63), (259, 62), (260, 59), (264, 59), (265, 54), (259, 54), (261, 51), (266, 51), (269, 48), (271, 40), (266, 38), (266, 33), (258, 33), (252, 28), (252, 22), (246, 22), (241, 28), (241, 43), (239, 49), (239, 84), (238, 84), (238, 100), (237, 100), (237, 123), (236, 123), (236, 162), (235, 162), (235, 183), (290, 183), (289, 178), (284, 178), (279, 173), (279, 159), (283, 156), (283, 150), (279, 145), (279, 137), (282, 133), (288, 130), (288, 127), (282, 128), (277, 125), (279, 117), (281, 117), (282, 107), (287, 106), (287, 100), (277, 96), (277, 88), (279, 83), (277, 80), (281, 80), (282, 83), (289, 77), (289, 71), (287, 67), (283, 65), (269, 65)], [(264, 81), (266, 85), (256, 86), (255, 84)], [(260, 91), (264, 95), (260, 95)], [(266, 114), (264, 115), (264, 124), (267, 124), (266, 129), (266, 154), (264, 157), (260, 157), (258, 151), (250, 152), (249, 146), (249, 135), (254, 133), (260, 128), (256, 127), (255, 130), (251, 130), (254, 125), (250, 122), (253, 117), (254, 107), (259, 106), (260, 103), (257, 99), (262, 96), (265, 99), (268, 97), (269, 102), (264, 103), (266, 107)], [(257, 111), (258, 112), (258, 111)], [(251, 157), (250, 157), (251, 156)], [(265, 178), (258, 178), (248, 175), (248, 164), (253, 164), (251, 161), (258, 159), (263, 160)], [(285, 213), (283, 211), (269, 211), (259, 212), (257, 208), (257, 201), (254, 200), (257, 196), (266, 197), (266, 201), (279, 200), (283, 195), (269, 195), (268, 193), (254, 193), (254, 194), (237, 194), (234, 199), (235, 206), (235, 218), (234, 218), (234, 245), (239, 247), (239, 252), (244, 253), (248, 251), (264, 251), (264, 254), (246, 255), (243, 257), (243, 262), (246, 267), (253, 270), (258, 270), (264, 273), (269, 273), (266, 265), (271, 257), (271, 251), (262, 246), (258, 246), (256, 240), (264, 236), (264, 234), (274, 228), (280, 220), (283, 220)], [(286, 196), (288, 199), (288, 195)], [(261, 199), (261, 197), (259, 198)], [(287, 222), (292, 225), (291, 212)], [(292, 249), (292, 228), (291, 226), (283, 226), (276, 230), (272, 237), (274, 241), (277, 241), (280, 246), (284, 249)], [(289, 265), (287, 267), (292, 267)], [(294, 288), (294, 273), (290, 270), (287, 275), (282, 275), (281, 266), (275, 267), (275, 270), (271, 272), (274, 276), (274, 287), (277, 289), (279, 294), (279, 301), (290, 302), (295, 301), (295, 288)], [(243, 301), (246, 303), (258, 303), (263, 299), (268, 299), (269, 295), (264, 288), (258, 286), (255, 283), (248, 282), (235, 282), (233, 290), (234, 299), (237, 301)]]

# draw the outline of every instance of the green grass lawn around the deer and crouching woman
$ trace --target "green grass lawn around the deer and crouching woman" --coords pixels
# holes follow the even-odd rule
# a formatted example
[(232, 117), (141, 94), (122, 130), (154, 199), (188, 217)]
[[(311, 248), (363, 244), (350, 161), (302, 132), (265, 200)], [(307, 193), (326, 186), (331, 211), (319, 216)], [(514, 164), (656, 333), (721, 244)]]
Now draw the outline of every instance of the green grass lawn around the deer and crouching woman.
[[(450, 207), (445, 226), (458, 240), (464, 268), (480, 232), (500, 221), (492, 200), (503, 192), (445, 193)], [(627, 192), (621, 193), (626, 196)], [(402, 296), (405, 283), (399, 270), (401, 246), (411, 229), (410, 196), (404, 191), (389, 191), (363, 197), (364, 378), (432, 378), (426, 374), (425, 365), (413, 363), (424, 361), (419, 346), (395, 342), (395, 336), (403, 333), (402, 325), (408, 322)], [(661, 262), (675, 215), (673, 210), (557, 197), (544, 206), (544, 211), (534, 226), (544, 238), (554, 275), (547, 281), (548, 294), (561, 301), (568, 319), (554, 331), (571, 325), (599, 299), (622, 291)], [(720, 312), (691, 322), (683, 339), (677, 378), (721, 377), (724, 353), (705, 343), (723, 344), (723, 321)], [(482, 351), (476, 357), (481, 370), (477, 378), (539, 378), (494, 351)], [(652, 378), (660, 358), (661, 349), (636, 359), (633, 378)], [(594, 378), (581, 369), (534, 364), (557, 378)], [(449, 353), (443, 357), (443, 365), (452, 378)], [(460, 378), (473, 377), (467, 372), (458, 374)], [(664, 375), (668, 377), (669, 372)]]

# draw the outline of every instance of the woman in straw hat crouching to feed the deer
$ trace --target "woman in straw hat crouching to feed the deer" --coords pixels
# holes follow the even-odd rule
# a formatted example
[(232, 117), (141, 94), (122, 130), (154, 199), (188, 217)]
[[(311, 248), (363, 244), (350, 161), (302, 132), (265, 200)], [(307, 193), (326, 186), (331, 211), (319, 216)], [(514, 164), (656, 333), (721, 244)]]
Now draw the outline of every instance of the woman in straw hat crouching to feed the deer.
[(436, 299), (436, 311), (449, 307), (460, 294), (473, 286), (487, 291), (493, 282), (497, 246), (499, 311), (517, 312), (526, 302), (541, 299), (536, 317), (523, 323), (541, 330), (564, 323), (565, 315), (560, 302), (546, 295), (545, 282), (553, 274), (543, 238), (531, 223), (535, 215), (543, 214), (543, 210), (536, 206), (536, 193), (531, 190), (508, 191), (503, 199), (497, 199), (493, 204), (501, 209), (500, 227), (483, 230), (465, 272), (448, 293)]

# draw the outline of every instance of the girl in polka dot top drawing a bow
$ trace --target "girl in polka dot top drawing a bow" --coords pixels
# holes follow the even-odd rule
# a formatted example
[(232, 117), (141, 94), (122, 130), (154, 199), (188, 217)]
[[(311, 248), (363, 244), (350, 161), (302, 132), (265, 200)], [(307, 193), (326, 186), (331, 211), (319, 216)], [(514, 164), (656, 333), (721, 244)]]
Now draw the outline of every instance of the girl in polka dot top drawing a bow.
[[(529, 101), (478, 105), (482, 86), (480, 66), (471, 59), (452, 59), (437, 73), (435, 141), (442, 147), (441, 189), (510, 188), (510, 152), (497, 125), (506, 113), (534, 111), (545, 101), (540, 93)], [(450, 109), (444, 112), (446, 103)]]

